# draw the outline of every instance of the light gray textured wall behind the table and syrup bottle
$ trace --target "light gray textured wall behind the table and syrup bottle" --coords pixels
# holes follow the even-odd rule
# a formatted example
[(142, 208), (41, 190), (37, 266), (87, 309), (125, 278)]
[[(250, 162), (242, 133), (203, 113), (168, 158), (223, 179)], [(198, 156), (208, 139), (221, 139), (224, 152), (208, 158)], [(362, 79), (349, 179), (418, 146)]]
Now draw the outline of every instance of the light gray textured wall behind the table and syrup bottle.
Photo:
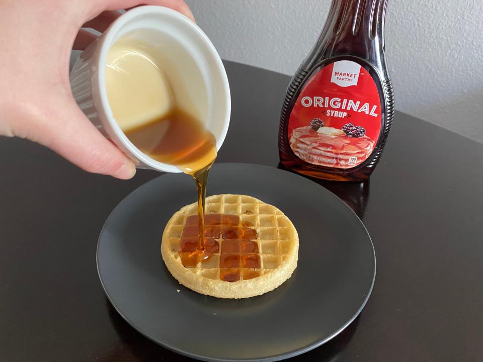
[[(222, 58), (290, 75), (330, 6), (330, 0), (187, 3)], [(389, 0), (385, 36), (396, 109), (483, 143), (482, 14), (481, 0)]]

